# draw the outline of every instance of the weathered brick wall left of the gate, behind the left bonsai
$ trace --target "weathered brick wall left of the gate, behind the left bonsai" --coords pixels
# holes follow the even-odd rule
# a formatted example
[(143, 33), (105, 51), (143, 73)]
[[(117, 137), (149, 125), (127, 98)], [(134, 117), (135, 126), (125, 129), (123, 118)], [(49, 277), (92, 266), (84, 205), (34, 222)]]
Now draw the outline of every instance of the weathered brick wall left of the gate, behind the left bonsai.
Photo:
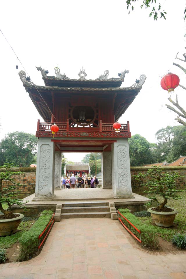
[[(0, 169), (0, 171), (3, 171), (3, 169)], [(24, 172), (24, 174), (12, 175), (12, 178), (15, 179), (16, 183), (23, 184), (23, 186), (15, 185), (16, 190), (20, 190), (19, 194), (17, 195), (19, 198), (25, 198), (25, 197), (35, 193), (36, 168), (12, 168), (11, 171), (23, 171)], [(7, 180), (3, 180), (2, 184), (3, 184), (3, 187), (12, 185), (12, 183)]]

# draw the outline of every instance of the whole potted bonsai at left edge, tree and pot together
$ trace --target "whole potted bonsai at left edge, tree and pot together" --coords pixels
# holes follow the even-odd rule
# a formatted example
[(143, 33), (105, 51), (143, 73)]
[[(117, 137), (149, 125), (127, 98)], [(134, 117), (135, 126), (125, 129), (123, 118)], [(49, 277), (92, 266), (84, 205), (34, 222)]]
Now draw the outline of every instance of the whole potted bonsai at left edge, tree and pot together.
[[(16, 197), (19, 190), (15, 191), (15, 185), (22, 186), (22, 184), (16, 183), (12, 178), (12, 175), (20, 175), (23, 174), (23, 172), (11, 171), (10, 167), (12, 167), (12, 164), (0, 166), (1, 169), (3, 168), (3, 171), (0, 171), (0, 210), (3, 213), (0, 214), (0, 236), (14, 233), (19, 226), (21, 219), (24, 217), (23, 214), (13, 213), (11, 211), (11, 205), (23, 205), (23, 200)], [(12, 185), (3, 187), (3, 180), (10, 181)], [(4, 203), (9, 206), (8, 209), (3, 208)]]

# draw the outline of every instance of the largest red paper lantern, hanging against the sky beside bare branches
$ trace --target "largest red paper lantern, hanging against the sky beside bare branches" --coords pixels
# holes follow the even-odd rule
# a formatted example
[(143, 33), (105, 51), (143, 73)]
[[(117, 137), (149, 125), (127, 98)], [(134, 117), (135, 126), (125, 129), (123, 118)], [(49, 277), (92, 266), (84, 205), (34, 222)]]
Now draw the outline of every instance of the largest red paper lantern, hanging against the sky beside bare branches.
[(179, 83), (180, 83), (179, 76), (169, 73), (164, 77), (162, 77), (160, 84), (164, 90), (168, 90), (168, 92), (171, 91), (174, 92), (174, 88), (176, 88), (179, 85)]

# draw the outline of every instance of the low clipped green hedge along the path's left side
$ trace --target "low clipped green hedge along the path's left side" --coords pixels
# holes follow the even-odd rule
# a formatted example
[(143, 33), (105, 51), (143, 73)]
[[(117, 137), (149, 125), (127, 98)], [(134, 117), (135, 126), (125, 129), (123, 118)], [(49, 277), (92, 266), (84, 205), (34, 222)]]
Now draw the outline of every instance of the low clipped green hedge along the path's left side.
[[(33, 224), (29, 231), (24, 232), (22, 236), (18, 239), (21, 244), (21, 253), (19, 255), (19, 261), (25, 261), (32, 258), (37, 254), (38, 251), (38, 237), (42, 231), (46, 228), (47, 224), (51, 220), (52, 211), (44, 210), (39, 219)], [(41, 242), (44, 236), (46, 235), (48, 229), (40, 238)]]

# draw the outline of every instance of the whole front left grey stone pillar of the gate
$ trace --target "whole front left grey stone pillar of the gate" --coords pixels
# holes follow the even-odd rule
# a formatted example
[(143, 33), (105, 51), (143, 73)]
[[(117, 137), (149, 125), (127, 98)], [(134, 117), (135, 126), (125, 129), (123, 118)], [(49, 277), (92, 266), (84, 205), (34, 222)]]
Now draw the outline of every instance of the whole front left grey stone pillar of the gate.
[(40, 137), (37, 149), (35, 199), (54, 197), (54, 158), (54, 142), (51, 142), (51, 138)]

